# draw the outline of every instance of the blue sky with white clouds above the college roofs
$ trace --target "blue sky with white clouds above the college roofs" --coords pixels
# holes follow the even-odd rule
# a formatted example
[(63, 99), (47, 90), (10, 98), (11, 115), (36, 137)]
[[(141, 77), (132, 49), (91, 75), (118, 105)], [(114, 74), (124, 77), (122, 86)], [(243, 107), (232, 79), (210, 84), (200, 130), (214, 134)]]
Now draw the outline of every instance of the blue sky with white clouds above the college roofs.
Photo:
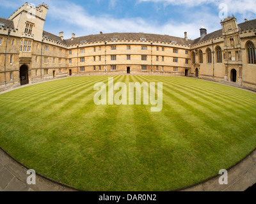
[[(8, 18), (26, 1), (1, 0), (0, 17)], [(220, 20), (234, 15), (237, 22), (256, 18), (255, 0), (31, 0), (49, 6), (44, 30), (64, 37), (103, 33), (154, 33), (184, 37), (200, 36), (202, 24), (211, 33), (221, 29)]]

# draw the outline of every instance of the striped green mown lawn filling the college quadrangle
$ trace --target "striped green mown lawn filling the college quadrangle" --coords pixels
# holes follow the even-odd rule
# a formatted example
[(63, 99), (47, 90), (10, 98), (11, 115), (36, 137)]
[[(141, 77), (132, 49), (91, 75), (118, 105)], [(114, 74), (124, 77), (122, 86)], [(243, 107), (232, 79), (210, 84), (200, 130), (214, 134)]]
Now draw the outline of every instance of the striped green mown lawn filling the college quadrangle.
[(163, 110), (93, 103), (72, 77), (0, 95), (0, 147), (37, 173), (86, 191), (168, 191), (230, 168), (256, 147), (256, 94), (193, 78), (163, 82)]

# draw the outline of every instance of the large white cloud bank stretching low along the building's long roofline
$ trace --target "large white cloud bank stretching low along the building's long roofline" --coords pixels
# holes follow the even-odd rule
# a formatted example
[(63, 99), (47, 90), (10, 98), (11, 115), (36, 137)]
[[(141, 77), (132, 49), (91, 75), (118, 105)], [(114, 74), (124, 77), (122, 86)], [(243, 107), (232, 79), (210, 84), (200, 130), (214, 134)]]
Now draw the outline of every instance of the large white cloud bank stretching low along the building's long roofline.
[[(115, 18), (111, 15), (102, 14), (100, 16), (89, 15), (86, 8), (74, 3), (58, 3), (54, 1), (51, 3), (48, 15), (51, 18), (58, 18), (67, 23), (65, 28), (65, 38), (70, 38), (71, 33), (76, 33), (76, 36), (84, 36), (88, 34), (98, 34), (100, 31), (103, 33), (154, 33), (154, 34), (168, 34), (184, 38), (184, 32), (188, 32), (188, 38), (198, 38), (199, 28), (201, 25), (202, 17), (198, 13), (191, 14), (194, 18), (192, 23), (175, 22), (169, 20), (165, 24), (158, 22), (148, 21), (143, 18)], [(205, 13), (204, 25), (209, 25), (208, 31), (216, 31), (220, 29), (220, 19), (218, 16)], [(45, 23), (47, 24), (47, 22)], [(206, 26), (207, 27), (207, 26)], [(57, 29), (57, 28), (56, 28)], [(51, 31), (49, 31), (51, 32)], [(58, 34), (59, 31), (54, 31)]]

